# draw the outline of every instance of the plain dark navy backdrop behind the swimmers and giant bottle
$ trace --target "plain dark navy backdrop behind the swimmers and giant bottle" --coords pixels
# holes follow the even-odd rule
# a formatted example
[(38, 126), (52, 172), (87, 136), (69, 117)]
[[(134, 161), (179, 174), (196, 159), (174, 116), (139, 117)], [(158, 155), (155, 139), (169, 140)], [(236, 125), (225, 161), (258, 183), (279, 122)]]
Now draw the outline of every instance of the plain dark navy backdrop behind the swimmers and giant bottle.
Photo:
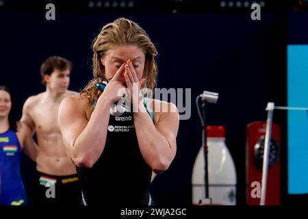
[[(0, 84), (12, 88), (18, 118), (27, 97), (44, 91), (40, 64), (47, 57), (60, 55), (73, 62), (70, 90), (79, 91), (92, 77), (91, 44), (101, 27), (118, 17), (130, 18), (147, 31), (159, 52), (157, 88), (192, 89), (191, 117), (180, 122), (177, 155), (168, 171), (152, 184), (155, 203), (191, 204), (192, 166), (201, 146), (194, 101), (209, 90), (220, 96), (216, 105), (207, 107), (207, 124), (226, 127), (227, 146), (238, 174), (238, 205), (245, 204), (246, 125), (266, 120), (269, 101), (287, 105), (286, 46), (288, 42), (307, 43), (307, 28), (303, 28), (307, 12), (296, 12), (290, 6), (295, 1), (280, 5), (265, 1), (268, 8), (262, 9), (261, 21), (251, 19), (250, 8), (222, 9), (219, 1), (208, 1), (210, 7), (197, 5), (197, 1), (135, 1), (132, 9), (87, 9), (89, 1), (76, 5), (71, 1), (16, 1), (19, 5), (14, 7), (13, 1), (5, 2), (5, 8), (0, 8)], [(44, 5), (49, 2), (55, 3), (55, 21), (45, 19)], [(281, 194), (282, 203), (289, 203), (286, 114), (275, 114), (274, 123), (282, 128)], [(30, 203), (34, 168), (23, 156), (22, 174)]]

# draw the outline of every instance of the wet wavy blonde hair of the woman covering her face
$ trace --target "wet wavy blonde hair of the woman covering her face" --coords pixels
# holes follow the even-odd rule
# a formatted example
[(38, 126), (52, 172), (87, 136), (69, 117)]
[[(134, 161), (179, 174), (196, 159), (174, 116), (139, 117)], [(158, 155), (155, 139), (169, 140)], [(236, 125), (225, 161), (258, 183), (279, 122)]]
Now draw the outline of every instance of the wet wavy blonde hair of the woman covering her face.
[(99, 36), (93, 40), (93, 77), (88, 85), (81, 90), (80, 94), (86, 94), (86, 98), (91, 104), (97, 102), (101, 92), (95, 87), (95, 80), (101, 79), (97, 76), (105, 77), (105, 66), (101, 63), (101, 57), (114, 46), (120, 45), (137, 45), (145, 53), (145, 64), (143, 78), (146, 79), (142, 84), (142, 88), (150, 88), (152, 91), (156, 86), (157, 64), (155, 57), (157, 50), (153, 42), (151, 42), (146, 31), (137, 23), (127, 18), (118, 18), (112, 23), (108, 23), (101, 29)]

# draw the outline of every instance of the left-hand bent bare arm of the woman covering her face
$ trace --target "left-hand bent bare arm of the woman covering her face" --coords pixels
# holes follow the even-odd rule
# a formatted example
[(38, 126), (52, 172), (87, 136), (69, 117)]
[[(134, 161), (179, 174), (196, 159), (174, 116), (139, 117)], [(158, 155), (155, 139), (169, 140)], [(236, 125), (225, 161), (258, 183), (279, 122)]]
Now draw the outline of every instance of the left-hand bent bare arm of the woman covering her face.
[(101, 100), (86, 118), (88, 103), (74, 96), (66, 97), (60, 104), (58, 124), (70, 159), (77, 166), (91, 168), (103, 153), (110, 116), (110, 103)]

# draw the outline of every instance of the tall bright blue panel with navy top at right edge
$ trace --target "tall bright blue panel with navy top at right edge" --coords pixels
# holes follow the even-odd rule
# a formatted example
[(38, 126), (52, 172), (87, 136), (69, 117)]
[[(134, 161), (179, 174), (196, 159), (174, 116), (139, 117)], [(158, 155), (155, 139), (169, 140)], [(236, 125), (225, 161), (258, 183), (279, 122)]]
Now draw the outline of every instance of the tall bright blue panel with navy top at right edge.
[[(289, 45), (287, 47), (287, 104), (308, 107), (308, 30), (307, 13), (289, 14)], [(308, 114), (288, 112), (288, 192), (301, 203), (307, 200)]]

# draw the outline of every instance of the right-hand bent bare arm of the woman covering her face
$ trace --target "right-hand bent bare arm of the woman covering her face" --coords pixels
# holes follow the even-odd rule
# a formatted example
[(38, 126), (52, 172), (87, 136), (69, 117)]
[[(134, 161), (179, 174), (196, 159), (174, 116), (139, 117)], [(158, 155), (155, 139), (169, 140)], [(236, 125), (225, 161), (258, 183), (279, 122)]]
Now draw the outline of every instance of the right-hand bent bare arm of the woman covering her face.
[(168, 169), (177, 151), (179, 111), (172, 103), (165, 104), (172, 110), (162, 112), (155, 125), (149, 114), (142, 110), (133, 115), (140, 151), (155, 173)]

